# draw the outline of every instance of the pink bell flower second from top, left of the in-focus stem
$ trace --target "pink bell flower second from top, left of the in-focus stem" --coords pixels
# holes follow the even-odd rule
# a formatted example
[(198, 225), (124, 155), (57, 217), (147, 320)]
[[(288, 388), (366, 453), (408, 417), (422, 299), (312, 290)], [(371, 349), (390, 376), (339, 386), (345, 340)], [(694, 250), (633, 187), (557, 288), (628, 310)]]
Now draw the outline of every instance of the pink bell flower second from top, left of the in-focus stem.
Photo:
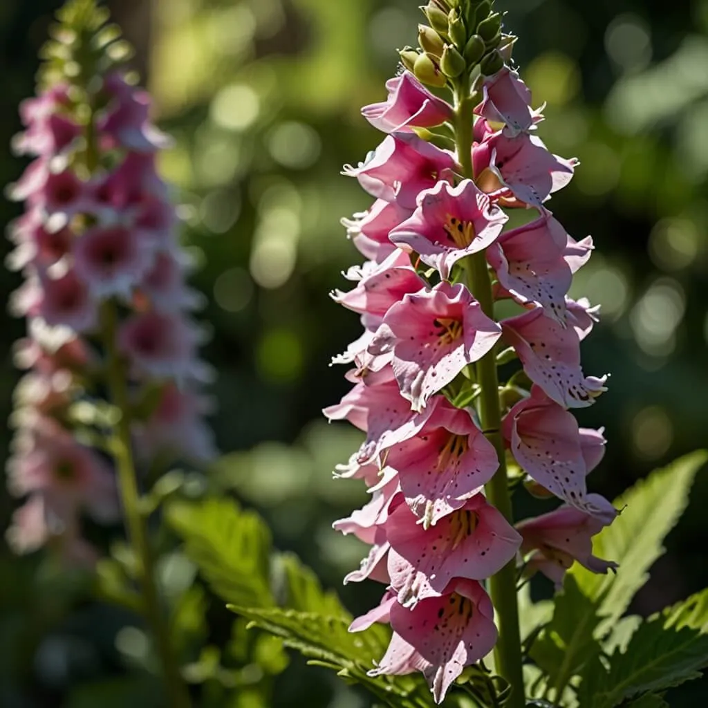
[(456, 167), (452, 154), (413, 133), (388, 135), (358, 167), (345, 165), (343, 174), (356, 177), (370, 195), (415, 209), (416, 198)]

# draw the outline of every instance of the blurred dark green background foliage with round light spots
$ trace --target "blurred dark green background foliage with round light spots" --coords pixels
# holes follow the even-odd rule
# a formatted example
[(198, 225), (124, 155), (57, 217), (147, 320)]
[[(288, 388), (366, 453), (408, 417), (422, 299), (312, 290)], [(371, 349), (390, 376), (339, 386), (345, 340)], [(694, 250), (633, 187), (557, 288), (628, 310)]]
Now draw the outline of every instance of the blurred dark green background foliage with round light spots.
[[(19, 129), (16, 106), (33, 93), (37, 52), (59, 4), (0, 3), (0, 144)], [(193, 282), (205, 294), (213, 335), (205, 356), (219, 374), (213, 424), (224, 457), (210, 474), (263, 513), (278, 547), (338, 587), (362, 547), (330, 525), (365, 495), (355, 483), (332, 481), (331, 470), (360, 438), (328, 426), (319, 411), (346, 392), (343, 370), (329, 360), (358, 336), (359, 324), (327, 293), (342, 287), (341, 270), (360, 259), (338, 219), (370, 202), (339, 171), (381, 139), (359, 108), (384, 97), (394, 50), (415, 41), (418, 2), (109, 4), (137, 47), (134, 63), (154, 93), (156, 118), (177, 141), (161, 166), (176, 186), (185, 245), (200, 263)], [(706, 445), (708, 0), (498, 6), (520, 36), (515, 58), (536, 103), (548, 104), (540, 135), (582, 164), (552, 208), (573, 236), (595, 239), (573, 295), (603, 306), (584, 364), (612, 378), (610, 392), (580, 418), (606, 428), (607, 456), (590, 484), (612, 497)], [(1, 153), (1, 183), (21, 169), (8, 149)], [(0, 210), (4, 223), (18, 214), (7, 202)], [(4, 299), (18, 284), (16, 274), (0, 273)], [(4, 420), (16, 382), (11, 345), (23, 324), (3, 317)], [(3, 431), (3, 450), (7, 444)], [(702, 476), (634, 603), (637, 612), (708, 586), (707, 503)], [(14, 504), (0, 498), (3, 526)], [(85, 687), (113, 685), (106, 677), (119, 680), (130, 664), (125, 641), (116, 643), (126, 618), (88, 602), (66, 612), (47, 598), (37, 569), (38, 559), (0, 549), (0, 707), (93, 706)], [(349, 586), (343, 597), (358, 612), (379, 593), (373, 584)], [(694, 706), (705, 695), (697, 684), (675, 692), (671, 704)], [(367, 704), (297, 661), (273, 701)]]

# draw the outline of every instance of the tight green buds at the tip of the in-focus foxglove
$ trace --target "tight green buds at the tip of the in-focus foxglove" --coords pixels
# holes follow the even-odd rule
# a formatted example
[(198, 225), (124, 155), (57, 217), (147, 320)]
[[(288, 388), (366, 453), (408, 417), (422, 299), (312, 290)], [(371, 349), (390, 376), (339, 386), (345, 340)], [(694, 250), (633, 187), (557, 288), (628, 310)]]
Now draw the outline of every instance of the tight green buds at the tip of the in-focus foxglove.
[(428, 25), (418, 25), (418, 50), (405, 47), (401, 62), (423, 84), (496, 74), (511, 59), (515, 37), (502, 31), (493, 0), (429, 0), (421, 7)]

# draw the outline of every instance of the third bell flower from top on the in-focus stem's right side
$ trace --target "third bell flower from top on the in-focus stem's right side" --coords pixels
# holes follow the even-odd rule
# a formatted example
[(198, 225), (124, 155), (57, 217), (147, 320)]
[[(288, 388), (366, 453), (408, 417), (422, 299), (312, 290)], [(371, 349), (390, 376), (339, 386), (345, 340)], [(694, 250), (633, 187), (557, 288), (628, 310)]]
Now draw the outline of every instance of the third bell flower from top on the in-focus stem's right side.
[[(487, 261), (496, 270), (499, 285), (519, 304), (538, 304), (543, 313), (559, 323), (566, 320), (566, 293), (573, 268), (566, 251), (578, 265), (576, 244), (549, 212), (530, 224), (505, 232), (487, 251)], [(589, 249), (586, 249), (589, 257)]]

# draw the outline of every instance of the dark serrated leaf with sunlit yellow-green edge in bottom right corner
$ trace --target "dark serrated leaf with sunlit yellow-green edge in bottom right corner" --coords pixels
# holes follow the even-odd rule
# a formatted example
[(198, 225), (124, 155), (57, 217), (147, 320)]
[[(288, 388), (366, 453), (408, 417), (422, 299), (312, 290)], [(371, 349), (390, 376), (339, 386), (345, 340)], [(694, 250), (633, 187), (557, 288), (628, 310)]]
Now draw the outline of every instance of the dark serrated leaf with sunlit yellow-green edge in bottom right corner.
[(583, 708), (613, 708), (642, 694), (700, 678), (705, 666), (708, 590), (643, 622), (626, 651), (616, 649), (607, 666), (593, 661), (583, 674), (578, 700)]

